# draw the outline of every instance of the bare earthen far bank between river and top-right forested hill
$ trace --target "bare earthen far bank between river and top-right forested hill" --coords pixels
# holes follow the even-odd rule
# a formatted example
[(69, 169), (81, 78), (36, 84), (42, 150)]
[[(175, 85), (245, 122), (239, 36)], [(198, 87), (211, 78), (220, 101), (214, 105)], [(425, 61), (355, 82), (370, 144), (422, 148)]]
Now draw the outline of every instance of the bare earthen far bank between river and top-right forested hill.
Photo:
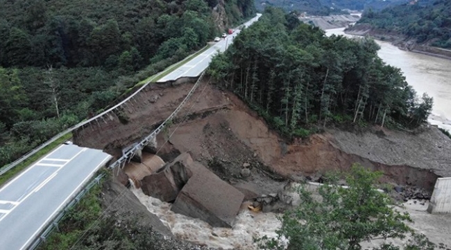
[(391, 44), (404, 51), (451, 60), (451, 50), (432, 47), (429, 46), (428, 43), (418, 44), (415, 39), (406, 38), (398, 33), (375, 29), (366, 24), (359, 24), (346, 28), (344, 32), (348, 35), (369, 35), (377, 40), (391, 42)]

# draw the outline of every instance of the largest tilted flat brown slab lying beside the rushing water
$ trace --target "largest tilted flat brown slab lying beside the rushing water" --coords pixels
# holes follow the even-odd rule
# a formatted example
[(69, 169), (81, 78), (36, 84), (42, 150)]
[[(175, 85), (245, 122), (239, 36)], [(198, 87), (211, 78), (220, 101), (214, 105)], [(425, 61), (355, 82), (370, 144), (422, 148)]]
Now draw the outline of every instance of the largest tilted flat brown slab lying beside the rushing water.
[(193, 175), (178, 194), (171, 210), (202, 219), (211, 226), (232, 227), (244, 194), (200, 163), (194, 162), (190, 169)]

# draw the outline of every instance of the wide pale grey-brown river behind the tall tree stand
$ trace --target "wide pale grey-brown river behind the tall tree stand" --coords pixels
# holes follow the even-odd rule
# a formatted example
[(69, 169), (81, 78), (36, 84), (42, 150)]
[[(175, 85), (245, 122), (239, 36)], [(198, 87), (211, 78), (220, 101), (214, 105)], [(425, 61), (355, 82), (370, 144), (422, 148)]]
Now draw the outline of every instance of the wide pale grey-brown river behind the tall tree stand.
[[(332, 34), (352, 37), (344, 33), (344, 28), (326, 30), (326, 35)], [(402, 51), (390, 42), (376, 42), (381, 47), (377, 52), (380, 58), (400, 68), (418, 96), (426, 92), (434, 97), (429, 123), (451, 131), (451, 60)]]

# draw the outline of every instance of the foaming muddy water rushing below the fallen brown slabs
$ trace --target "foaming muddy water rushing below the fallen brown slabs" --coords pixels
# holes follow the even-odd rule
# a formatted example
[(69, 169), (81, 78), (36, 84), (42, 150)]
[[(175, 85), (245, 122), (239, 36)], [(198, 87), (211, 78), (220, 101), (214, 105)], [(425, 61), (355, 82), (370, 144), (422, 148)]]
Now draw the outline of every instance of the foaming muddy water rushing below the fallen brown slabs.
[(275, 237), (281, 226), (273, 213), (253, 213), (242, 208), (233, 228), (215, 228), (201, 219), (193, 219), (171, 211), (171, 203), (148, 197), (141, 189), (131, 188), (132, 192), (146, 208), (157, 215), (173, 235), (180, 240), (222, 249), (257, 249), (254, 238), (264, 235)]

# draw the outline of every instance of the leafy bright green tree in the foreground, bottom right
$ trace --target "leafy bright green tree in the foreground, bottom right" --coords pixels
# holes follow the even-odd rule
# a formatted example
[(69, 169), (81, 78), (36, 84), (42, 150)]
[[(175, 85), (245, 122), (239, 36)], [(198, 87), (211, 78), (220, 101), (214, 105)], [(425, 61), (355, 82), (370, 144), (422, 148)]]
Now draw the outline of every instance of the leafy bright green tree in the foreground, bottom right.
[[(434, 249), (434, 244), (407, 226), (409, 215), (393, 208), (391, 198), (377, 190), (381, 176), (381, 172), (355, 164), (346, 174), (346, 188), (334, 182), (337, 176), (328, 176), (317, 189), (318, 195), (301, 186), (300, 205), (280, 217), (282, 228), (277, 238), (260, 239), (262, 249), (359, 250), (366, 240), (406, 236), (413, 236), (413, 240), (405, 244), (405, 249)], [(382, 244), (377, 249), (399, 247)]]

